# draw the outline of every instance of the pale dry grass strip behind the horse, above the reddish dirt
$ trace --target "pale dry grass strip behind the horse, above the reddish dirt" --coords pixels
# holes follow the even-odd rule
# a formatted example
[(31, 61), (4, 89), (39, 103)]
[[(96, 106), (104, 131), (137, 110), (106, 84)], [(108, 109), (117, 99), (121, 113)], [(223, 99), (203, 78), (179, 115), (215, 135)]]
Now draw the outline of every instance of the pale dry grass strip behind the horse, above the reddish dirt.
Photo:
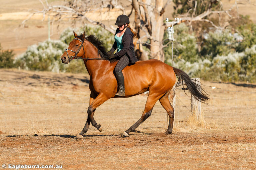
[[(1, 70), (1, 75), (0, 117), (3, 122), (0, 127), (3, 133), (44, 135), (68, 132), (75, 135), (84, 126), (90, 94), (88, 75), (18, 70)], [(209, 105), (202, 105), (200, 121), (190, 116), (189, 96), (183, 90), (176, 91), (174, 130), (194, 130), (194, 127), (241, 130), (256, 128), (255, 88), (225, 83), (202, 84), (207, 85), (203, 87), (211, 100)], [(129, 99), (110, 99), (97, 108), (95, 119), (103, 125), (104, 131), (119, 133), (141, 117), (146, 98), (146, 95), (139, 95)], [(166, 119), (166, 111), (157, 102), (152, 116), (138, 130), (164, 132)], [(94, 128), (89, 132), (91, 130), (97, 132)]]

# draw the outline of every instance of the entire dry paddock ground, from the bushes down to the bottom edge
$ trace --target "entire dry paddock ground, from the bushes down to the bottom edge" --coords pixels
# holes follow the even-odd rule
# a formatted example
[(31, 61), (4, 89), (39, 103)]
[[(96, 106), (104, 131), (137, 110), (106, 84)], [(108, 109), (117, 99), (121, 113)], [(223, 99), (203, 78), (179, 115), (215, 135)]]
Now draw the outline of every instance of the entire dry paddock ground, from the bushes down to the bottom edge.
[[(173, 133), (165, 136), (159, 102), (131, 136), (119, 134), (141, 116), (146, 95), (110, 99), (96, 109), (100, 133), (87, 118), (89, 76), (0, 70), (0, 163), (64, 169), (255, 169), (256, 88), (204, 82), (211, 100), (204, 122), (190, 118), (190, 94), (176, 91)], [(209, 87), (211, 86), (211, 87)], [(212, 89), (212, 87), (216, 87)], [(0, 165), (1, 167), (1, 165)]]

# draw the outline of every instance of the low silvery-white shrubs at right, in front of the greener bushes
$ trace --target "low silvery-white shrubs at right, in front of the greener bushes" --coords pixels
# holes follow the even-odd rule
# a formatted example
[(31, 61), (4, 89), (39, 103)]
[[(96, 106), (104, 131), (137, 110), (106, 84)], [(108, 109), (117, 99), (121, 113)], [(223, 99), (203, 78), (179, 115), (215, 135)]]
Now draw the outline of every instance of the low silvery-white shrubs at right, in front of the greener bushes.
[(256, 45), (246, 48), (244, 52), (232, 52), (217, 55), (208, 59), (190, 63), (180, 60), (176, 67), (181, 68), (190, 76), (216, 81), (249, 81), (256, 80)]

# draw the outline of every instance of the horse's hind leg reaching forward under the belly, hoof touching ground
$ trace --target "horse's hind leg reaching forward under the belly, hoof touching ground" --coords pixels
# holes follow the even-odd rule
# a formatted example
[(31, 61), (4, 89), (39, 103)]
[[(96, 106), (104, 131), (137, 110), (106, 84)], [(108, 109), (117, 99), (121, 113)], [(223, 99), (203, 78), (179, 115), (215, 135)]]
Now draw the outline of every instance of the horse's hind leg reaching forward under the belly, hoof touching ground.
[(141, 118), (135, 124), (133, 124), (128, 130), (121, 133), (121, 135), (128, 137), (131, 131), (134, 131), (142, 122), (144, 122), (151, 115), (153, 107), (158, 99), (159, 99), (159, 96), (149, 94), (146, 105), (145, 105), (145, 109)]

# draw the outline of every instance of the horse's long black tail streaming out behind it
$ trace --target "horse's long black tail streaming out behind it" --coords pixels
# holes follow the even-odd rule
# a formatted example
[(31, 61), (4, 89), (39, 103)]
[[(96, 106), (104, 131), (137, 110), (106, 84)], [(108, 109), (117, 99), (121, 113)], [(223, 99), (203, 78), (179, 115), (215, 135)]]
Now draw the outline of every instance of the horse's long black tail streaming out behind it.
[[(196, 100), (203, 101), (202, 103), (205, 103), (209, 100), (209, 98), (207, 97), (207, 93), (201, 88), (200, 85), (196, 84), (194, 80), (187, 75), (187, 73), (180, 69), (174, 67), (172, 68), (178, 78), (176, 87), (178, 87), (181, 84), (183, 85), (183, 82), (185, 82), (189, 92), (192, 94), (192, 96), (194, 96)], [(204, 94), (203, 92), (206, 94)]]

